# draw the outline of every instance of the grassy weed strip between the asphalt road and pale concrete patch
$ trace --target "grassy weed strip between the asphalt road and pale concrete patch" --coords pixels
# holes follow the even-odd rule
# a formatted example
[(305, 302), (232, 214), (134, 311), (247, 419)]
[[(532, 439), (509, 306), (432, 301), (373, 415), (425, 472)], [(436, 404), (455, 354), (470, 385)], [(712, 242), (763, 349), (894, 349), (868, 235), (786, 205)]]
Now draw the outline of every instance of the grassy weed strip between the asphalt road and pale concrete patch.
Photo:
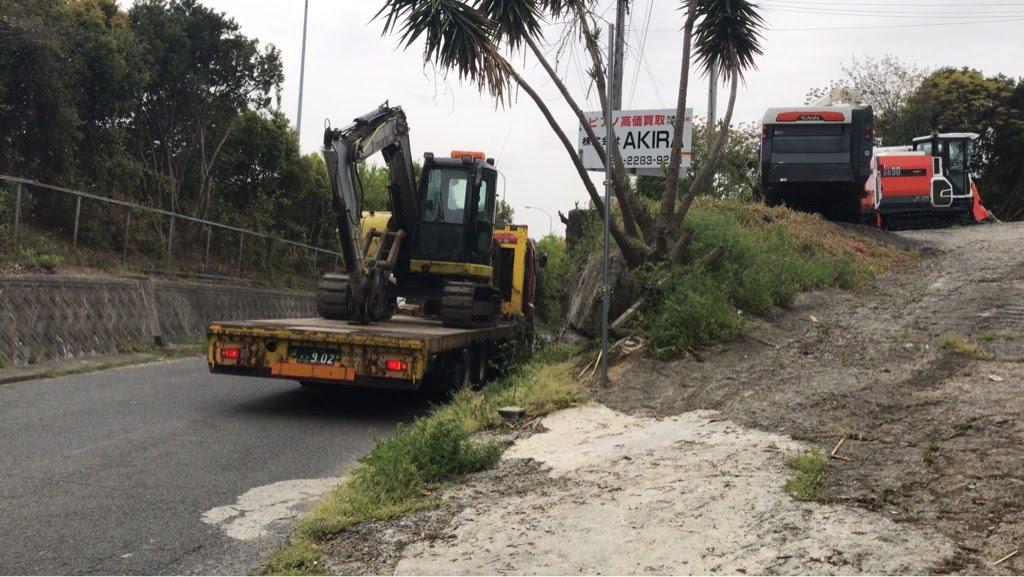
[(431, 506), (444, 483), (493, 466), (497, 443), (470, 435), (503, 421), (498, 408), (518, 404), (540, 415), (571, 405), (577, 351), (549, 346), (517, 372), (482, 390), (462, 389), (452, 401), (386, 439), (379, 440), (352, 473), (295, 527), (259, 569), (263, 575), (321, 575), (322, 544), (347, 527), (393, 519)]

